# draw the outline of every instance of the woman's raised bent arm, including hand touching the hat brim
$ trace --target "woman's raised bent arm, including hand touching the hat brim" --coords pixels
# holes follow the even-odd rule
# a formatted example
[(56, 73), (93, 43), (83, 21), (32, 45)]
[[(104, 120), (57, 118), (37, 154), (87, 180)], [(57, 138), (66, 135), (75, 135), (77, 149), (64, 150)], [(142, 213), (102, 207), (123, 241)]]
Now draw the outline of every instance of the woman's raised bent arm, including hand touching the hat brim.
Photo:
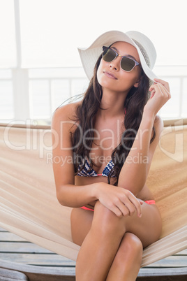
[[(149, 88), (151, 97), (144, 106), (142, 121), (135, 141), (119, 174), (118, 186), (130, 190), (135, 196), (145, 185), (151, 160), (163, 130), (163, 122), (156, 114), (171, 97), (167, 82), (160, 79), (155, 79), (155, 82)], [(156, 131), (156, 137), (150, 144), (153, 127)]]

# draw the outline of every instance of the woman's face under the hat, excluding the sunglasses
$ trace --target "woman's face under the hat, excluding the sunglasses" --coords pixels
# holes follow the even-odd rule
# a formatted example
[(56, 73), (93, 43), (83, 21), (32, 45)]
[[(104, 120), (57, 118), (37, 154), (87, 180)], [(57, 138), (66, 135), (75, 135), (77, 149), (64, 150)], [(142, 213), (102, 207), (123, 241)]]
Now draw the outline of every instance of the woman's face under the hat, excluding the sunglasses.
[[(140, 58), (136, 48), (126, 42), (116, 42), (110, 48), (114, 48), (121, 56), (131, 56), (140, 63)], [(100, 65), (97, 71), (99, 84), (103, 89), (110, 89), (114, 92), (128, 92), (133, 86), (138, 87), (140, 80), (141, 69), (139, 66), (126, 72), (120, 66), (121, 57), (117, 57), (112, 62), (100, 60)]]

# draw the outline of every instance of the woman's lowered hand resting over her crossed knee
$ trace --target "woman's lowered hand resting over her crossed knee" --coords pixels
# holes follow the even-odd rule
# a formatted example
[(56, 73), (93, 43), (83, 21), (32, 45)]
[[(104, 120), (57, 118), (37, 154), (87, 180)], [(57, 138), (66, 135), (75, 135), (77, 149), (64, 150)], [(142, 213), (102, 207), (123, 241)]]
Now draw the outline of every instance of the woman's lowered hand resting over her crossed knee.
[(137, 212), (138, 217), (142, 216), (141, 205), (143, 202), (137, 199), (128, 189), (99, 182), (97, 194), (100, 203), (114, 212), (117, 217), (127, 217), (135, 212)]

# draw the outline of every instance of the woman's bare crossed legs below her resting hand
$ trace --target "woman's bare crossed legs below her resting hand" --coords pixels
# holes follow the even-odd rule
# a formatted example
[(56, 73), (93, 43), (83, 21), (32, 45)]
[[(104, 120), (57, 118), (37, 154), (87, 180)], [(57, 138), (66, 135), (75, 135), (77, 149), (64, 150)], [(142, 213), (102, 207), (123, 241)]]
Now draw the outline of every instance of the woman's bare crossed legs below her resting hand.
[[(73, 240), (75, 243), (82, 245), (77, 258), (77, 281), (103, 281), (107, 278), (107, 275), (112, 280), (115, 268), (112, 265), (114, 263), (118, 265), (121, 274), (123, 272), (125, 275), (130, 271), (129, 268), (132, 266), (133, 261), (131, 263), (130, 260), (126, 260), (126, 266), (124, 266), (123, 262), (119, 262), (119, 254), (123, 253), (127, 257), (128, 252), (130, 252), (128, 250), (130, 239), (125, 240), (124, 233), (134, 233), (142, 241), (144, 247), (156, 241), (160, 235), (159, 212), (156, 206), (149, 206), (147, 203), (142, 205), (141, 218), (137, 217), (137, 215), (119, 218), (100, 202), (96, 203), (94, 216), (91, 211), (82, 209), (76, 211), (77, 214), (79, 213), (77, 217), (76, 212), (72, 216)], [(77, 229), (80, 229), (80, 226), (83, 226), (83, 229), (81, 228), (80, 233), (78, 233)], [(86, 238), (84, 239), (85, 236)], [(123, 238), (124, 240), (122, 240)], [(83, 240), (84, 242), (82, 243)], [(125, 243), (124, 241), (128, 242)], [(137, 248), (140, 250), (140, 245)], [(125, 254), (126, 251), (127, 253)], [(142, 251), (140, 250), (140, 252)], [(136, 267), (140, 267), (138, 258)], [(130, 272), (134, 274), (134, 272)], [(129, 278), (131, 278), (130, 275)], [(133, 278), (132, 276), (129, 280), (135, 280)]]

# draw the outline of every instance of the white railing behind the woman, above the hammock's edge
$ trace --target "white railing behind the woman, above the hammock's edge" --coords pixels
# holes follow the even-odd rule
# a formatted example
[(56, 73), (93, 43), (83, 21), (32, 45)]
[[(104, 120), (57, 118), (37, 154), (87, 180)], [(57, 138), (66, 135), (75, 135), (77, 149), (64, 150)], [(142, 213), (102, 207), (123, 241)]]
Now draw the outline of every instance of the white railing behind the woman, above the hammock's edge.
[[(172, 99), (160, 110), (165, 119), (187, 117), (187, 66), (156, 66), (170, 82)], [(82, 94), (89, 81), (82, 68), (1, 69), (0, 122), (50, 124), (52, 113), (71, 96)]]

